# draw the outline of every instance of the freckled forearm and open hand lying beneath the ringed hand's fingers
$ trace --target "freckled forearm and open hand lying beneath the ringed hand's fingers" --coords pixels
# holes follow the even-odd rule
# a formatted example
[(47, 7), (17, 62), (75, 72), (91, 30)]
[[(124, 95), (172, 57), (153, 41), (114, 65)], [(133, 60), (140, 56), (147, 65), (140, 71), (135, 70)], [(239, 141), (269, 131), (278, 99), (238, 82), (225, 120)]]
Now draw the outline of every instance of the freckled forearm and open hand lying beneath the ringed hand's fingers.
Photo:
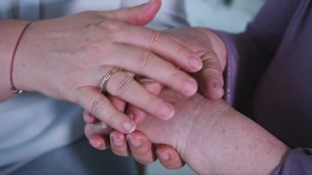
[[(199, 174), (268, 174), (283, 162), (289, 151), (223, 100), (209, 100), (200, 94), (184, 97), (166, 88), (160, 97), (174, 104), (177, 113), (169, 121), (148, 115), (138, 131), (126, 136), (130, 144), (134, 143), (133, 147), (146, 143), (147, 140), (137, 137), (144, 133), (152, 143), (177, 150), (182, 160)], [(92, 130), (94, 124), (88, 123), (86, 128)], [(103, 134), (102, 129), (93, 132)], [(148, 147), (141, 148), (144, 149), (141, 152), (149, 152)], [(171, 152), (162, 150), (157, 155), (169, 158)]]

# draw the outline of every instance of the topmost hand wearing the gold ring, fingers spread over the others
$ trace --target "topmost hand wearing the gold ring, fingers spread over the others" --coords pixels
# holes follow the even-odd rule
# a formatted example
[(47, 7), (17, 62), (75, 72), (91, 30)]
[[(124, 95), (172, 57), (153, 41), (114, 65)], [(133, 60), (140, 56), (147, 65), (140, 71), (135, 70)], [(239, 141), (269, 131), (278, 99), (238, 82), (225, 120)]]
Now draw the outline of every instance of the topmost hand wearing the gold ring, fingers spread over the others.
[(160, 1), (152, 1), (130, 9), (34, 22), (16, 52), (15, 86), (78, 103), (109, 126), (131, 133), (136, 127), (133, 119), (118, 111), (98, 88), (103, 76), (118, 67), (125, 71), (111, 76), (107, 92), (169, 119), (173, 106), (149, 93), (133, 80), (134, 74), (127, 73), (152, 78), (186, 96), (197, 91), (196, 80), (167, 61), (196, 72), (202, 67), (200, 58), (164, 34), (135, 26), (148, 23), (160, 5)]

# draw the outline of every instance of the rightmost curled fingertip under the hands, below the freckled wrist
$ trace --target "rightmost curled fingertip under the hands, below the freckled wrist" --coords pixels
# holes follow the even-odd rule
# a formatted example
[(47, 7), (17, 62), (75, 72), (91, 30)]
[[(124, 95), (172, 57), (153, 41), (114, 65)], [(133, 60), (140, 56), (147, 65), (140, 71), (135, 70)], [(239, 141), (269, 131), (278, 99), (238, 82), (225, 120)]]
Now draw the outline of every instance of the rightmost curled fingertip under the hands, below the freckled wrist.
[(179, 169), (185, 165), (177, 151), (171, 146), (161, 145), (156, 149), (160, 163), (168, 169)]

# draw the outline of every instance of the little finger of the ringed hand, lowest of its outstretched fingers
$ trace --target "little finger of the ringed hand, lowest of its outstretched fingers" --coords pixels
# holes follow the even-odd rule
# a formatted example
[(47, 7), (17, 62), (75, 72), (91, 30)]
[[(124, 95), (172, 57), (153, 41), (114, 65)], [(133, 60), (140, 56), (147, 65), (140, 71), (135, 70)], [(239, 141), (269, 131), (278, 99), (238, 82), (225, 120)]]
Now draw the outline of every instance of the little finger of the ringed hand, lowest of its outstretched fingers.
[(112, 128), (125, 134), (135, 130), (133, 119), (117, 110), (99, 90), (85, 86), (76, 91), (75, 97), (76, 103)]

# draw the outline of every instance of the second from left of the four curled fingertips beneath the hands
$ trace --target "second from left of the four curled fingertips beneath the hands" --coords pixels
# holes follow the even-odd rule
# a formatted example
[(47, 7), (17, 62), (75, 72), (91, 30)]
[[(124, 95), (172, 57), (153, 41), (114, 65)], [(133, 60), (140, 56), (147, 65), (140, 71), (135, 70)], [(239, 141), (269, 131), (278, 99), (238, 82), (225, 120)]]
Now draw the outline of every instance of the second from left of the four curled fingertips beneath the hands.
[(126, 137), (123, 133), (116, 130), (110, 134), (111, 150), (118, 156), (131, 156), (131, 151), (127, 145)]

